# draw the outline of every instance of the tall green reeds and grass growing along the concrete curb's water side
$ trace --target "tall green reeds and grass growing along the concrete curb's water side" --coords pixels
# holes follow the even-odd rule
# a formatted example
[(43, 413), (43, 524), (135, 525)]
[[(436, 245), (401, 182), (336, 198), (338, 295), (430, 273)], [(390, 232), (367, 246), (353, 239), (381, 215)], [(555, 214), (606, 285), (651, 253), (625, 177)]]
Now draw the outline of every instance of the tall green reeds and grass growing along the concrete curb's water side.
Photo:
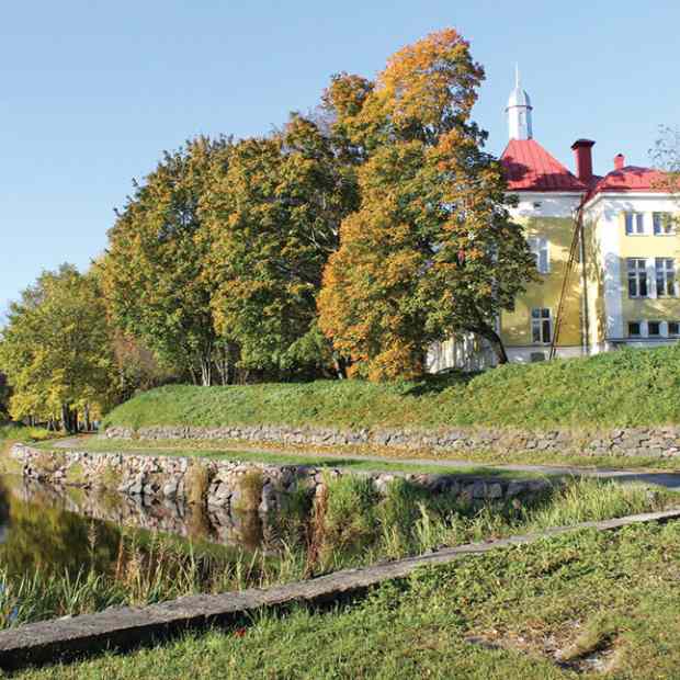
[[(401, 479), (383, 498), (361, 477), (328, 479), (313, 507), (301, 491), (280, 515), (275, 555), (197, 552), (159, 534), (141, 544), (123, 532), (117, 558), (105, 573), (86, 565), (75, 575), (37, 570), (16, 577), (0, 569), (0, 627), (199, 592), (264, 588), (442, 546), (656, 510), (669, 498), (634, 485), (574, 479), (526, 502), (473, 505), (433, 497)], [(94, 565), (94, 529), (89, 542)]]

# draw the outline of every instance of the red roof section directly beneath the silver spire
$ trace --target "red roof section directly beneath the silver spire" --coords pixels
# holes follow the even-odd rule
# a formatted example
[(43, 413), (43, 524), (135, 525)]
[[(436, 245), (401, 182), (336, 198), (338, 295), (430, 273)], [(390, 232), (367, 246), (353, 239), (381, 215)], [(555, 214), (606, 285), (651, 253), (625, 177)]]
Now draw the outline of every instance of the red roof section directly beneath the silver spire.
[(586, 191), (587, 186), (534, 139), (510, 139), (500, 162), (510, 191)]

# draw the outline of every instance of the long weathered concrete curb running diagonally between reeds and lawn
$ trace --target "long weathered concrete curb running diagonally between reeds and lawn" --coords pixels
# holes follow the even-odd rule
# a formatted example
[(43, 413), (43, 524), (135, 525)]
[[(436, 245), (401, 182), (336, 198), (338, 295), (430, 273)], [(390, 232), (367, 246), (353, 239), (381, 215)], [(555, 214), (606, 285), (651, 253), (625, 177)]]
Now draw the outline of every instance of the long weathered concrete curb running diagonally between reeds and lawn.
[(580, 529), (610, 531), (631, 524), (672, 519), (680, 519), (680, 508), (601, 522), (583, 522), (574, 526), (556, 526), (489, 543), (472, 543), (362, 569), (343, 569), (267, 590), (189, 596), (137, 609), (120, 608), (72, 619), (33, 623), (0, 633), (0, 668), (13, 670), (106, 649), (132, 648), (182, 631), (235, 623), (262, 608), (285, 608), (295, 603), (326, 604), (363, 593), (383, 581), (404, 578), (419, 567), (451, 564), (469, 555), (534, 543)]

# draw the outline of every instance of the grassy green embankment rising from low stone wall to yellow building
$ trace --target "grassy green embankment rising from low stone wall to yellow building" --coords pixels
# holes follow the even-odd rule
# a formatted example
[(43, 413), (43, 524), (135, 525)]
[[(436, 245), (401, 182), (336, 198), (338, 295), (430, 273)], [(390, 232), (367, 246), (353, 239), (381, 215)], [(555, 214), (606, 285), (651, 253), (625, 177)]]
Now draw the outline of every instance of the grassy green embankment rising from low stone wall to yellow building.
[(680, 344), (508, 365), (465, 378), (197, 388), (171, 386), (115, 409), (106, 424), (361, 427), (639, 426), (680, 422)]

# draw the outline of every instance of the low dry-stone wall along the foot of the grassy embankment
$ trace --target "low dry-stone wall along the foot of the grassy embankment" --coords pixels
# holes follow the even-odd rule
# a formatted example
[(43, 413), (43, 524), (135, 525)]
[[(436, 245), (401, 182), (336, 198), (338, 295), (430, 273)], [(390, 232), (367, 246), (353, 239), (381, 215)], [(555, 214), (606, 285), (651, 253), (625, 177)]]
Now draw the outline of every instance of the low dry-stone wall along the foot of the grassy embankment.
[(582, 455), (680, 455), (680, 427), (625, 428), (608, 431), (553, 430), (529, 432), (509, 429), (337, 430), (286, 426), (231, 426), (225, 428), (152, 427), (132, 430), (109, 428), (110, 439), (241, 440), (311, 446), (386, 446), (434, 451), (546, 451)]

